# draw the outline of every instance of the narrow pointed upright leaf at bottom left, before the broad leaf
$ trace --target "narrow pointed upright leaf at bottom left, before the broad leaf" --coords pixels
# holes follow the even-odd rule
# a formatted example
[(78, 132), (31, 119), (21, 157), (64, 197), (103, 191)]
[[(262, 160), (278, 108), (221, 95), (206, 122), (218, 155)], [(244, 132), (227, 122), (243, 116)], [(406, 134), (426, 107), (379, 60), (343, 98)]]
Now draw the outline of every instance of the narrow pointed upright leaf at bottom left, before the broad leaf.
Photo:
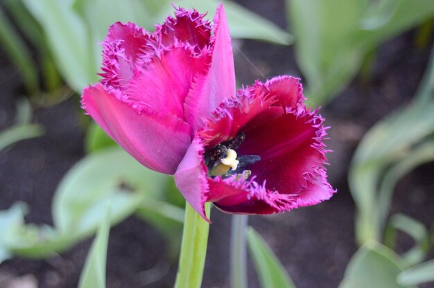
[(105, 288), (105, 262), (107, 260), (107, 246), (110, 233), (110, 201), (106, 203), (107, 212), (101, 222), (95, 240), (87, 255), (79, 288)]

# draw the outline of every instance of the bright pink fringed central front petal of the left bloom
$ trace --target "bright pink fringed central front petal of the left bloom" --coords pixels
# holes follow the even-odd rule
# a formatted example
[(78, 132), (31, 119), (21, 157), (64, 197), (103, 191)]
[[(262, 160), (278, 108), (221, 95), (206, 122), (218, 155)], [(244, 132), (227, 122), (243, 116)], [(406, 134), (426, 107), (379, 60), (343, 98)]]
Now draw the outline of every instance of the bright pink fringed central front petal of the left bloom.
[(139, 108), (184, 118), (184, 99), (193, 78), (207, 68), (209, 55), (192, 55), (188, 47), (172, 47), (156, 54), (137, 70), (125, 97)]

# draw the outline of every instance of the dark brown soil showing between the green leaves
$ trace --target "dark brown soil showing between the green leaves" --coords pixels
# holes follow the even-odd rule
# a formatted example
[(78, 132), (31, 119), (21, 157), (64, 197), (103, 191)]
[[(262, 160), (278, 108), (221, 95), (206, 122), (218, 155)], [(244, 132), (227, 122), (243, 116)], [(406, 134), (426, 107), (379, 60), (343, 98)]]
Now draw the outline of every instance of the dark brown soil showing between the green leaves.
[[(251, 10), (285, 27), (283, 1), (240, 1)], [(318, 206), (301, 208), (284, 215), (250, 217), (254, 228), (277, 253), (298, 288), (337, 287), (351, 255), (354, 242), (354, 202), (349, 195), (347, 171), (358, 141), (377, 120), (408, 102), (417, 89), (428, 62), (430, 47), (414, 45), (414, 32), (392, 39), (379, 48), (368, 84), (354, 80), (345, 91), (322, 109), (331, 126), (328, 142), (329, 179), (338, 193)], [(266, 77), (279, 74), (300, 76), (293, 48), (254, 41), (235, 45)], [(1, 51), (0, 51), (1, 53)], [(236, 55), (240, 83), (263, 80), (241, 53)], [(21, 97), (19, 73), (0, 54), (0, 130), (12, 124), (15, 102)], [(309, 95), (308, 95), (309, 97)], [(83, 155), (78, 97), (60, 105), (39, 108), (35, 122), (46, 127), (41, 138), (21, 141), (0, 152), (0, 209), (15, 201), (31, 206), (26, 220), (52, 224), (51, 199), (60, 179)], [(434, 213), (433, 164), (404, 177), (397, 188), (392, 209), (426, 225)], [(203, 287), (229, 287), (230, 215), (214, 209)], [(13, 259), (0, 265), (5, 277), (35, 276), (41, 288), (76, 287), (92, 240), (71, 251), (44, 260)], [(405, 241), (404, 241), (404, 246)], [(130, 217), (112, 228), (107, 258), (107, 287), (172, 287), (176, 263), (164, 257), (164, 240), (157, 231)], [(0, 285), (1, 286), (1, 285)], [(249, 266), (249, 287), (259, 287), (254, 267)]]

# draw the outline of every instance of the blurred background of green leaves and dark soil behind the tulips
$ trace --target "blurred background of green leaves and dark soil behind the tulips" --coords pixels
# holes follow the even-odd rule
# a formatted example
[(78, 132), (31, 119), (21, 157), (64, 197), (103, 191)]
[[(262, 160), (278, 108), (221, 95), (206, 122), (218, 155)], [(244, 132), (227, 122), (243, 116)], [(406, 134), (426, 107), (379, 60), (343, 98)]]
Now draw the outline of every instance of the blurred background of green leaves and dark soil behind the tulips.
[[(153, 30), (171, 3), (208, 17), (218, 5), (0, 1), (0, 287), (77, 287), (107, 199), (107, 287), (173, 286), (184, 200), (80, 108), (108, 26)], [(249, 217), (295, 287), (434, 287), (434, 2), (223, 3), (237, 82), (300, 77), (331, 126), (338, 193)], [(212, 209), (211, 219), (202, 287), (229, 287), (231, 216)], [(249, 287), (263, 287), (253, 260)]]

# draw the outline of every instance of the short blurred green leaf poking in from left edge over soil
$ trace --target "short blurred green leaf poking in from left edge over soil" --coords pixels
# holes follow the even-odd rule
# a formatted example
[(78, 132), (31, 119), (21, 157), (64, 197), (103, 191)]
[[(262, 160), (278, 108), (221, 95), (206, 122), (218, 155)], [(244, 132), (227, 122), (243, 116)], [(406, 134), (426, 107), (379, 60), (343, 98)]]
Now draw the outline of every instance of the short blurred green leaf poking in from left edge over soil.
[(0, 132), (0, 150), (19, 141), (35, 138), (44, 134), (44, 126), (39, 124), (13, 125)]

